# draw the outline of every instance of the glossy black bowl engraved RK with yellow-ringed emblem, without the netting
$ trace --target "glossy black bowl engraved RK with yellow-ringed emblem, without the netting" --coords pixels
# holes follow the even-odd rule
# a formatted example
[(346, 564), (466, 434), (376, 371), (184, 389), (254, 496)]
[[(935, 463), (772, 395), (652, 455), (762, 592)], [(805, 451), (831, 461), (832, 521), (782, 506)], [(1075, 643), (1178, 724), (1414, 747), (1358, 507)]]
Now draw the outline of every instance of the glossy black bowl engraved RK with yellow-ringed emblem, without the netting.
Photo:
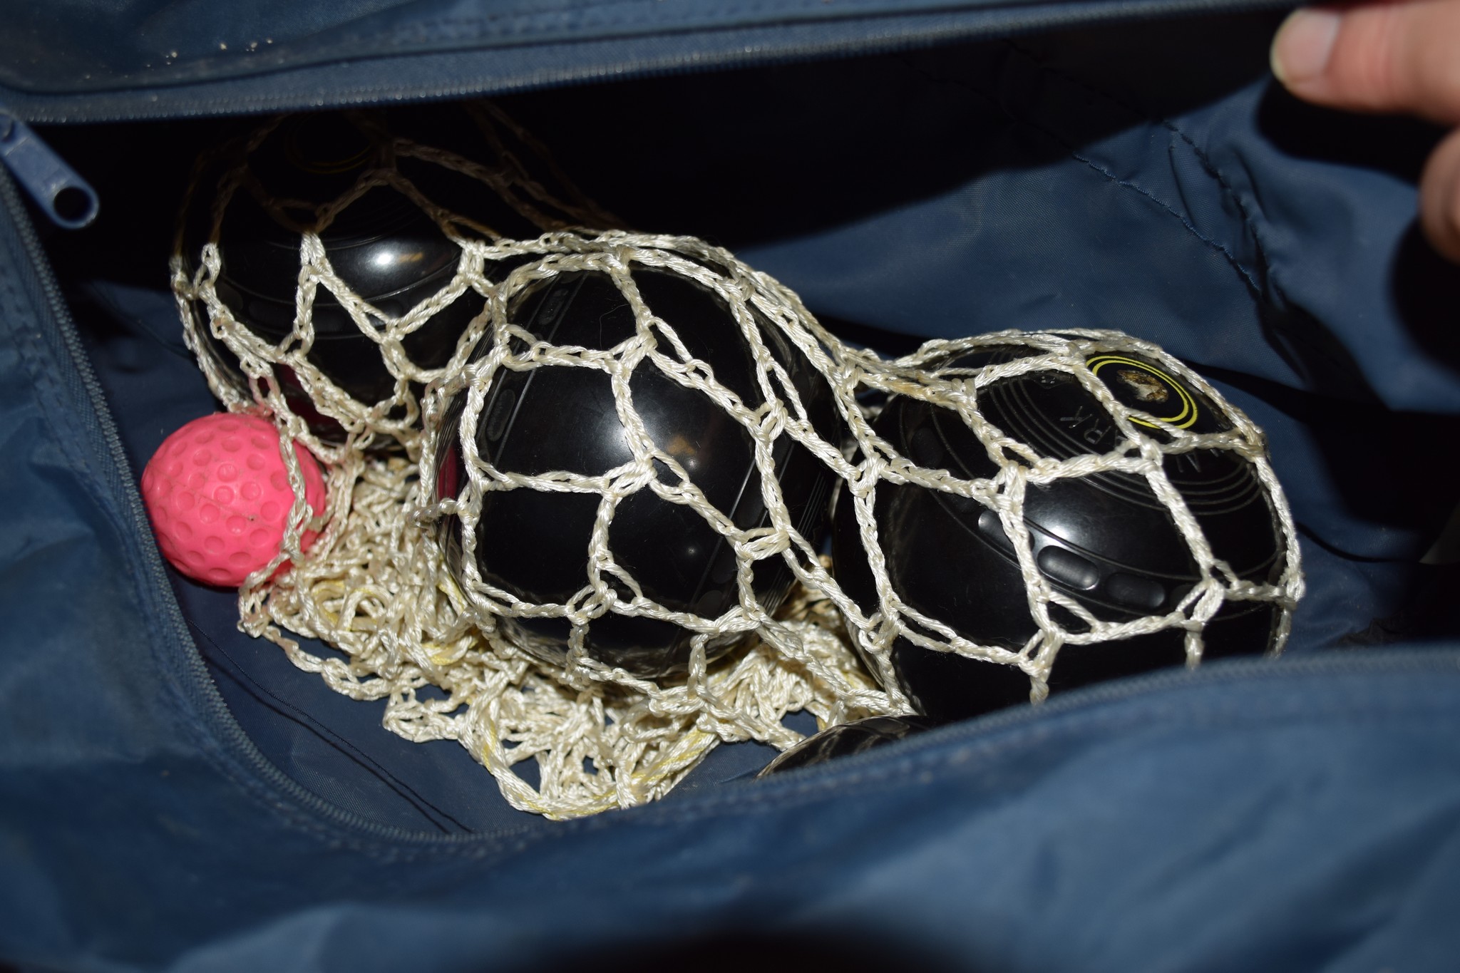
[[(999, 356), (983, 354), (953, 365), (977, 368), (994, 360)], [(1121, 403), (1193, 432), (1231, 427), (1212, 401), (1153, 362), (1110, 354), (1092, 357), (1089, 365)], [(1111, 416), (1064, 372), (1041, 371), (994, 382), (981, 392), (980, 410), (1004, 433), (1045, 457), (1104, 454), (1117, 445)], [(875, 429), (918, 465), (943, 468), (959, 478), (997, 471), (987, 446), (949, 410), (894, 398)], [(1167, 436), (1149, 425), (1136, 429)], [(1165, 460), (1165, 473), (1216, 557), (1242, 579), (1278, 579), (1285, 566), (1280, 530), (1247, 460), (1222, 449), (1175, 454)], [(837, 579), (863, 610), (873, 611), (872, 570), (848, 495), (838, 497), (837, 508)], [(889, 579), (907, 604), (983, 645), (1018, 651), (1037, 633), (1013, 543), (994, 511), (950, 493), (885, 483), (877, 487), (875, 516)], [(1127, 621), (1171, 611), (1200, 581), (1171, 513), (1143, 477), (1110, 471), (1031, 487), (1023, 519), (1040, 572), (1096, 619)], [(1083, 629), (1058, 605), (1051, 605), (1051, 613), (1067, 630)], [(1266, 651), (1278, 619), (1272, 604), (1226, 602), (1203, 632), (1204, 658)], [(1180, 629), (1064, 645), (1048, 686), (1060, 691), (1184, 661)], [(892, 668), (918, 712), (937, 721), (1029, 699), (1029, 677), (1019, 668), (934, 652), (907, 637), (894, 645)]]

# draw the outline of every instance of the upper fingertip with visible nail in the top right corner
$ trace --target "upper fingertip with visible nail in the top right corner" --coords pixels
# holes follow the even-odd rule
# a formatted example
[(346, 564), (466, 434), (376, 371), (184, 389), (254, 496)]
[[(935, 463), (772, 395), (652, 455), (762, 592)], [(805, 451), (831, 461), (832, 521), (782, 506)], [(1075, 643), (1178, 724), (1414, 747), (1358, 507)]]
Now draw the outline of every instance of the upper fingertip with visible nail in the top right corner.
[(1305, 101), (1460, 124), (1460, 1), (1295, 10), (1273, 39), (1272, 66)]

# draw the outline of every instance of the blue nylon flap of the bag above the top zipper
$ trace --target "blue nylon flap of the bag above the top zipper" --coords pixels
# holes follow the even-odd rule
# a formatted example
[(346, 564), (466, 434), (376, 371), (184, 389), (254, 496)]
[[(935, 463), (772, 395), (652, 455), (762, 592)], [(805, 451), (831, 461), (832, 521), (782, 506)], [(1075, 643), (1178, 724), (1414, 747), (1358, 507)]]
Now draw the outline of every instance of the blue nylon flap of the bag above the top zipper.
[[(1267, 0), (1282, 6), (1282, 0)], [(66, 0), (0, 4), (0, 86), (12, 106), (66, 105), (76, 117), (232, 109), (288, 90), (314, 104), (464, 96), (572, 77), (717, 61), (898, 48), (999, 29), (1178, 10), (1250, 9), (1232, 0)], [(45, 58), (34, 57), (45, 50)], [(350, 70), (350, 63), (393, 64)], [(383, 79), (388, 79), (381, 85)], [(184, 86), (191, 90), (184, 89)], [(394, 89), (394, 95), (387, 95)], [(180, 90), (181, 89), (181, 90)], [(356, 90), (352, 90), (356, 89)], [(50, 98), (60, 95), (63, 99)], [(76, 98), (76, 95), (85, 95)], [(140, 95), (140, 98), (137, 96)], [(180, 98), (180, 95), (182, 95)], [(353, 96), (352, 96), (353, 95)], [(70, 96), (70, 98), (64, 98)], [(333, 101), (342, 98), (343, 101)], [(149, 111), (149, 104), (153, 111)], [(39, 115), (36, 115), (39, 117)]]

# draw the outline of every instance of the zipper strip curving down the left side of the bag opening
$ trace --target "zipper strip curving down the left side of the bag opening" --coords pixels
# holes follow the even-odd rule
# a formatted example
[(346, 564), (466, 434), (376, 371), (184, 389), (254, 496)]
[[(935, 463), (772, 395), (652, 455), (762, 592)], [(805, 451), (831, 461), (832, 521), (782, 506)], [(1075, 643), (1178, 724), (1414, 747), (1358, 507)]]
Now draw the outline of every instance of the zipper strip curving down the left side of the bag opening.
[[(92, 371), (91, 359), (86, 354), (86, 349), (82, 346), (80, 336), (76, 333), (76, 325), (72, 321), (64, 296), (55, 282), (55, 274), (51, 270), (50, 260), (45, 255), (41, 241), (35, 233), (35, 228), (29, 220), (29, 214), (25, 212), (25, 206), (22, 204), (12, 179), (0, 178), (0, 200), (3, 200), (3, 204), (10, 214), (16, 235), (20, 239), (20, 247), (29, 258), (32, 273), (45, 295), (51, 314), (51, 324), (60, 333), (66, 344), (66, 350), (70, 353), (72, 365), (76, 368), (76, 373), (80, 378), (82, 388), (89, 401), (91, 408), (89, 411), (85, 408), (82, 410), (85, 414), (80, 416), (80, 420), (86, 426), (86, 430), (92, 435), (99, 435), (105, 445), (107, 457), (101, 457), (101, 467), (105, 477), (104, 483), (110, 487), (112, 499), (120, 500), (117, 512), (121, 513), (121, 527), (124, 528), (123, 535), (127, 541), (130, 541), (133, 548), (131, 553), (143, 565), (143, 578), (139, 585), (139, 588), (142, 588), (142, 597), (155, 608), (161, 608), (166, 629), (172, 636), (172, 645), (178, 646), (181, 649), (181, 655), (184, 656), (181, 659), (181, 672), (177, 672), (177, 659), (171, 658), (172, 654), (169, 654), (169, 658), (162, 659), (162, 665), (165, 668), (171, 667), (174, 675), (182, 677), (180, 680), (181, 689), (203, 718), (204, 731), (213, 735), (215, 743), (222, 744), (229, 757), (241, 760), (245, 764), (245, 770), (254, 775), (254, 779), (250, 780), (250, 783), (272, 786), (282, 795), (296, 802), (299, 808), (311, 811), (323, 818), (328, 818), (334, 824), (356, 830), (364, 837), (377, 837), (413, 845), (419, 845), (422, 842), (476, 843), (482, 840), (517, 837), (524, 833), (539, 830), (539, 824), (536, 821), (524, 823), (518, 829), (473, 831), (469, 834), (438, 834), (432, 831), (413, 831), (402, 827), (377, 824), (349, 811), (343, 811), (299, 786), (292, 778), (286, 776), (269, 763), (257, 747), (254, 747), (253, 741), (234, 719), (232, 712), (228, 709), (228, 703), (223, 702), (222, 694), (218, 691), (218, 686), (213, 683), (212, 674), (207, 671), (207, 664), (203, 662), (197, 643), (193, 640), (193, 635), (182, 617), (182, 610), (178, 607), (177, 598), (172, 595), (172, 585), (162, 567), (162, 557), (158, 553), (156, 546), (146, 543), (146, 538), (152, 535), (152, 525), (149, 524), (142, 505), (142, 496), (130, 476), (131, 467), (121, 445), (121, 436), (117, 433), (115, 420), (111, 417), (111, 408), (107, 404), (105, 392)], [(108, 460), (110, 462), (107, 462)], [(232, 775), (225, 773), (225, 776)]]

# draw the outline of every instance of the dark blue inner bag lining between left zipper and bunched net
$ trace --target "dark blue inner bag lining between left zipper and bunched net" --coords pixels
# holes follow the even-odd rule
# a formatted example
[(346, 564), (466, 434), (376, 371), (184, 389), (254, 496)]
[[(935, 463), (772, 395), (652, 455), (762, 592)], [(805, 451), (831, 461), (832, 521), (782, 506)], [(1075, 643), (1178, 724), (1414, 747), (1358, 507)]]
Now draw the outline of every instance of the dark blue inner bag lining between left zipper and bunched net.
[[(96, 283), (77, 308), (91, 362), (118, 420), (133, 470), (174, 429), (216, 408), (182, 346), (169, 293)], [(168, 582), (234, 718), (269, 761), (311, 794), (375, 823), (460, 834), (531, 815), (502, 801), (496, 782), (454, 741), (409, 743), (381, 729), (384, 702), (356, 702), (296, 670), (272, 642), (238, 632), (234, 592), (197, 585), (171, 567)], [(314, 639), (307, 651), (333, 655)], [(797, 729), (815, 731), (815, 719)], [(723, 747), (680, 785), (686, 791), (759, 770), (775, 751)], [(521, 767), (536, 783), (536, 764)]]

